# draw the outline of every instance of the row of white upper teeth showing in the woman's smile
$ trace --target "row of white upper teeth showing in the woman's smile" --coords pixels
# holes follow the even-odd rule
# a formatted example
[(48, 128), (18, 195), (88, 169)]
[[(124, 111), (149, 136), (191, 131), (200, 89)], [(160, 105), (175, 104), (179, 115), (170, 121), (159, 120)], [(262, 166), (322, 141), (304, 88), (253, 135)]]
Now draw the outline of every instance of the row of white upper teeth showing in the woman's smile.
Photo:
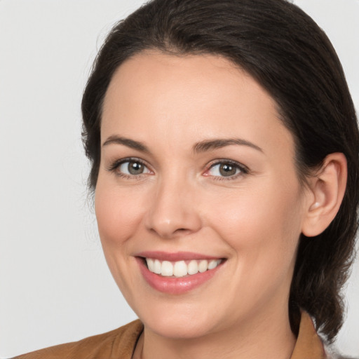
[(171, 277), (175, 276), (176, 278), (184, 277), (198, 272), (203, 273), (205, 271), (215, 269), (219, 263), (222, 262), (221, 259), (212, 259), (208, 260), (191, 260), (190, 262), (169, 262), (169, 261), (159, 261), (158, 259), (146, 258), (147, 266), (149, 271), (152, 273), (160, 274), (161, 276)]

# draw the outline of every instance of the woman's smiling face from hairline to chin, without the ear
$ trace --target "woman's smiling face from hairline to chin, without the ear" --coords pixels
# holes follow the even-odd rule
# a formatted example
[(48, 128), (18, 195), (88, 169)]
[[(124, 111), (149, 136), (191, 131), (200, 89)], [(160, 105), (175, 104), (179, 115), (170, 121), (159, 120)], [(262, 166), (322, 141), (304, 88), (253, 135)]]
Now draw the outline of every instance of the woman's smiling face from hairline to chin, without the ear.
[(214, 55), (135, 55), (107, 90), (101, 144), (104, 255), (148, 330), (201, 337), (287, 316), (306, 192), (252, 77)]

